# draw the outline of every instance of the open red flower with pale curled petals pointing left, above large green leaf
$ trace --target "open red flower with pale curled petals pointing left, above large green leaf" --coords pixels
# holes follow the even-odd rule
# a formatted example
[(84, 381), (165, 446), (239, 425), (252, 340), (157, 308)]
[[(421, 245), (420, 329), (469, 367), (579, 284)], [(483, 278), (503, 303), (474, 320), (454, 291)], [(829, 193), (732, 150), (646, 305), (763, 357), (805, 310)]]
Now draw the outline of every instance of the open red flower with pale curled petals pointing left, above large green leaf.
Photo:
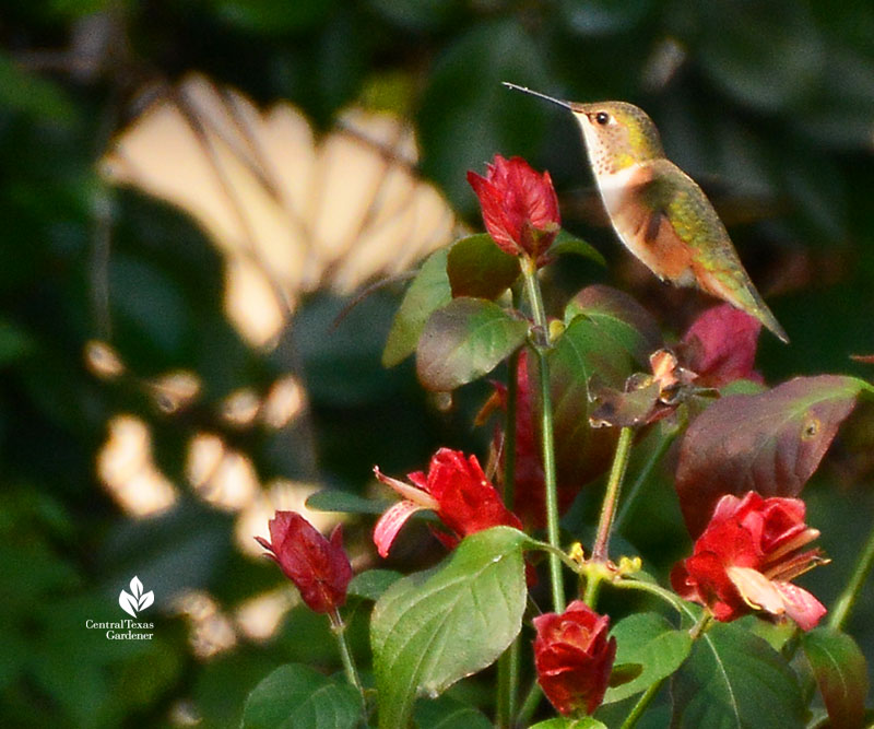
[(427, 477), (422, 471), (406, 477), (413, 485), (385, 475), (378, 467), (374, 467), (374, 473), (404, 497), (380, 517), (374, 529), (380, 556), (389, 553), (401, 527), (421, 509), (436, 512), (458, 538), (500, 525), (522, 528), (485, 478), (476, 456), (464, 458), (460, 450), (440, 448), (430, 459)]

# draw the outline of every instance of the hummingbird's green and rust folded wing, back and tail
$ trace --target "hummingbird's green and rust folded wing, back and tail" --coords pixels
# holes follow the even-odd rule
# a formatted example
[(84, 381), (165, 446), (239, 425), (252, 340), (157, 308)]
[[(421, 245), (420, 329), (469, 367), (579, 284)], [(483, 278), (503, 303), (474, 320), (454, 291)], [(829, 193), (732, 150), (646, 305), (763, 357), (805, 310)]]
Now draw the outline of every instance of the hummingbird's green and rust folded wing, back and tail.
[[(669, 160), (653, 160), (638, 188), (648, 212), (641, 222), (645, 243), (678, 247), (688, 251), (688, 266), (697, 286), (757, 318), (782, 341), (783, 328), (763, 301), (729, 238), (725, 226), (700, 187)], [(677, 277), (676, 283), (692, 283)]]

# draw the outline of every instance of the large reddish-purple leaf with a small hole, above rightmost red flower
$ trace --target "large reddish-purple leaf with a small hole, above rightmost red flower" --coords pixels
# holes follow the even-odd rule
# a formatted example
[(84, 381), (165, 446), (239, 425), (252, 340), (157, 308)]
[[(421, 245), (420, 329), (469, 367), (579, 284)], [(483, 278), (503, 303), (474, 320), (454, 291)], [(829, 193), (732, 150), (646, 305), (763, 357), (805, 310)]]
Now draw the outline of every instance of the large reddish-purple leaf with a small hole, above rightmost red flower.
[(718, 400), (680, 447), (676, 491), (698, 537), (723, 494), (796, 496), (867, 384), (853, 377), (798, 377), (759, 395)]

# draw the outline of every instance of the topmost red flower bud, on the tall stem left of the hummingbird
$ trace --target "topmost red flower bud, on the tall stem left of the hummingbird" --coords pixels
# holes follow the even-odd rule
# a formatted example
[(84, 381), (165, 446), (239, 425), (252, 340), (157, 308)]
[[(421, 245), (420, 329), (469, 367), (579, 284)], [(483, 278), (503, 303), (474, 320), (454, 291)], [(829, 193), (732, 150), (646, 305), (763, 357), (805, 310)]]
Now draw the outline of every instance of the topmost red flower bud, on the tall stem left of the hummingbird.
[(540, 175), (521, 157), (496, 154), (486, 177), (469, 172), (468, 183), (480, 198), (485, 228), (501, 250), (529, 256), (538, 266), (547, 262), (546, 249), (562, 225), (550, 173)]

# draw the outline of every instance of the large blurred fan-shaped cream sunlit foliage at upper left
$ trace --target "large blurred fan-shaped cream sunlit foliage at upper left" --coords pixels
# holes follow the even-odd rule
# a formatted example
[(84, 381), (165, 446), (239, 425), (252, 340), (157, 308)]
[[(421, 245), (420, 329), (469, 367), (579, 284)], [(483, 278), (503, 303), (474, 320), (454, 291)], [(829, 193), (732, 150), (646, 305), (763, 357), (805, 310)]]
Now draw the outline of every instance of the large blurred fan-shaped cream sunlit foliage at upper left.
[[(241, 20), (247, 2), (225, 7)], [(292, 4), (285, 20), (323, 10)], [(114, 140), (101, 174), (201, 225), (223, 255), (225, 309), (247, 341), (274, 341), (305, 292), (349, 294), (451, 239), (454, 215), (414, 173), (412, 127), (395, 116), (347, 109), (317, 139), (290, 104), (261, 111), (199, 74), (163, 91)]]

